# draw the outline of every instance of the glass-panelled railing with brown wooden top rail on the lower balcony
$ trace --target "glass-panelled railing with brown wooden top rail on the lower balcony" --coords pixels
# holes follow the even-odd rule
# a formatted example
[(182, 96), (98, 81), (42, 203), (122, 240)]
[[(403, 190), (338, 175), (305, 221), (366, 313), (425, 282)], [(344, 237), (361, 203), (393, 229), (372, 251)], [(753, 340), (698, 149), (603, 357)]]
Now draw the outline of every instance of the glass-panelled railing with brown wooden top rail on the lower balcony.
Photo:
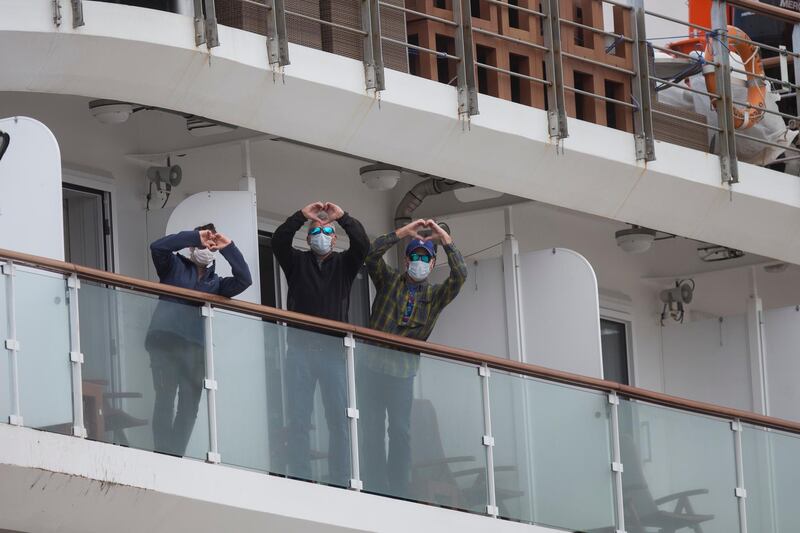
[[(667, 487), (676, 491), (648, 504), (658, 507), (676, 502), (675, 511), (669, 513), (673, 520), (670, 524), (680, 523), (681, 517), (687, 523), (701, 519), (710, 522), (708, 531), (712, 532), (747, 532), (748, 491), (755, 501), (752, 505), (761, 506), (755, 511), (767, 509), (770, 498), (793, 501), (787, 494), (774, 494), (793, 488), (780, 485), (770, 489), (762, 481), (767, 474), (780, 476), (785, 466), (782, 461), (800, 452), (797, 422), (8, 250), (0, 250), (0, 263), (0, 311), (5, 314), (0, 333), (6, 337), (7, 353), (0, 359), (0, 369), (8, 369), (11, 400), (5, 407), (0, 402), (0, 413), (7, 413), (6, 420), (12, 425), (176, 455), (185, 453), (209, 463), (570, 531), (626, 531), (626, 520), (629, 530), (636, 530), (642, 524), (636, 522), (640, 510), (635, 506), (643, 496), (634, 493), (643, 488), (649, 495), (648, 482), (658, 484), (660, 490)], [(192, 433), (196, 442), (187, 452), (151, 443), (146, 419), (126, 414), (124, 403), (109, 403), (109, 398), (143, 401), (141, 391), (149, 385), (141, 373), (149, 375), (149, 371), (145, 348), (139, 343), (151, 352), (151, 359), (154, 356), (142, 325), (155, 317), (153, 311), (161, 305), (176, 311), (173, 316), (179, 319), (171, 325), (176, 331), (191, 336), (194, 325), (201, 332), (196, 342), (202, 347), (202, 376), (191, 379), (202, 381), (206, 410), (201, 416), (203, 422), (198, 421)], [(160, 315), (160, 320), (164, 316)], [(45, 323), (49, 333), (43, 336), (40, 328)], [(166, 324), (159, 321), (157, 325)], [(110, 340), (104, 337), (104, 332), (117, 329), (124, 330), (118, 338), (113, 333)], [(285, 339), (288, 350), (282, 344)], [(174, 345), (171, 357), (178, 357), (189, 344)], [(104, 345), (108, 347), (102, 348)], [(302, 349), (292, 352), (291, 347), (298, 345)], [(333, 365), (327, 372), (340, 376), (336, 383), (340, 392), (346, 392), (341, 405), (346, 412), (334, 415), (325, 404), (327, 438), (313, 441), (315, 460), (327, 463), (327, 472), (315, 467), (297, 473), (267, 450), (276, 442), (273, 437), (284, 442), (288, 438), (291, 446), (293, 437), (286, 437), (281, 424), (270, 424), (267, 419), (291, 419), (294, 415), (286, 412), (295, 408), (296, 400), (281, 400), (282, 407), (266, 413), (259, 405), (276, 395), (280, 398), (281, 391), (292, 386), (293, 374), (282, 368), (281, 362), (291, 365), (293, 360), (303, 361), (307, 350), (320, 346), (324, 346), (320, 352), (323, 359), (317, 359), (316, 364)], [(366, 429), (362, 431), (361, 422), (369, 427), (374, 420), (359, 412), (367, 412), (379, 401), (376, 395), (384, 394), (381, 388), (369, 392), (370, 380), (377, 376), (368, 370), (370, 362), (407, 357), (421, 357), (419, 370), (411, 379), (419, 382), (415, 405), (427, 407), (421, 413), (427, 413), (428, 418), (414, 415), (414, 420), (421, 416), (428, 422), (420, 426), (422, 429), (413, 426), (419, 422), (412, 424), (412, 435), (421, 444), (412, 446), (415, 462), (406, 468), (416, 472), (416, 477), (411, 480), (411, 489), (400, 493), (372, 484), (375, 463), (369, 452), (375, 451), (370, 450), (375, 442), (367, 438)], [(268, 363), (260, 371), (255, 368), (265, 360), (276, 365)], [(328, 363), (323, 364), (324, 360)], [(64, 365), (69, 365), (68, 369)], [(139, 392), (121, 392), (126, 387)], [(105, 403), (98, 405), (100, 402)], [(171, 410), (172, 402), (169, 407)], [(127, 421), (127, 426), (120, 425), (119, 420)], [(336, 449), (334, 442), (341, 438), (334, 436), (336, 424), (346, 428), (340, 433), (349, 450), (347, 446)], [(126, 434), (126, 427), (128, 431), (147, 428), (147, 439)], [(381, 417), (379, 435), (384, 427)], [(440, 439), (438, 445), (436, 439)], [(383, 437), (378, 441), (379, 453), (383, 453)], [(787, 446), (791, 454), (782, 455)], [(450, 455), (436, 456), (435, 451), (442, 447)], [(477, 451), (481, 449), (485, 459), (479, 459)], [(337, 455), (348, 465), (339, 478), (333, 468)], [(455, 473), (444, 466), (458, 462), (478, 466)], [(648, 468), (649, 463), (655, 466)], [(469, 476), (472, 483), (454, 484), (452, 499), (443, 499), (442, 493), (428, 492), (433, 485), (426, 484), (426, 476), (431, 474), (420, 473), (431, 467), (438, 469), (439, 475), (448, 472), (445, 477), (452, 483), (453, 477), (463, 476)], [(510, 480), (503, 477), (509, 472), (514, 473)], [(345, 475), (349, 479), (342, 477)], [(675, 479), (677, 485), (672, 484)], [(436, 486), (441, 481), (430, 480)], [(551, 493), (563, 497), (548, 499)], [(708, 495), (695, 503), (696, 512), (702, 514), (692, 510), (689, 498), (693, 495)], [(783, 507), (771, 512), (777, 521), (791, 516), (793, 510)]]

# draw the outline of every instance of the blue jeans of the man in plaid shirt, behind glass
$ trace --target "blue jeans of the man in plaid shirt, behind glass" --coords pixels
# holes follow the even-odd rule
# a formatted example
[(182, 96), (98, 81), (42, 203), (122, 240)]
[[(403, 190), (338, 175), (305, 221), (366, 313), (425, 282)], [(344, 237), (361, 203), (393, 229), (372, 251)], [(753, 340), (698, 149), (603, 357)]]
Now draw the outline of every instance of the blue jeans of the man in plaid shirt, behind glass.
[[(398, 378), (362, 367), (359, 369), (358, 390), (358, 409), (364, 436), (361, 448), (364, 489), (408, 498), (414, 376)], [(385, 444), (387, 415), (388, 457)]]

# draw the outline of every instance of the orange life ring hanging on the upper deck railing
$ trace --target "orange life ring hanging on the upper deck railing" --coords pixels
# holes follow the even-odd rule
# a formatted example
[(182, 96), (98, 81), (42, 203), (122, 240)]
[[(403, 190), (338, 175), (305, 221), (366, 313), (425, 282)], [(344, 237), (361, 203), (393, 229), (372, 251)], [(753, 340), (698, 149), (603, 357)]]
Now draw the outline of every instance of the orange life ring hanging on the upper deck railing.
[[(750, 40), (750, 37), (736, 26), (728, 26), (728, 35), (738, 37), (739, 39)], [(766, 97), (765, 81), (762, 78), (756, 77), (764, 76), (764, 65), (761, 63), (758, 47), (740, 41), (739, 39), (731, 39), (729, 37), (728, 49), (735, 51), (744, 62), (744, 70), (747, 71), (747, 103), (750, 104), (751, 107), (740, 109), (735, 105), (733, 106), (733, 124), (737, 130), (750, 128), (764, 117)], [(708, 39), (706, 43), (704, 57), (706, 62), (714, 62), (712, 39)], [(711, 64), (703, 65), (703, 76), (706, 79), (706, 88), (708, 92), (718, 94), (716, 67)], [(719, 98), (713, 98), (711, 101), (714, 109), (717, 107), (717, 102), (719, 102)]]

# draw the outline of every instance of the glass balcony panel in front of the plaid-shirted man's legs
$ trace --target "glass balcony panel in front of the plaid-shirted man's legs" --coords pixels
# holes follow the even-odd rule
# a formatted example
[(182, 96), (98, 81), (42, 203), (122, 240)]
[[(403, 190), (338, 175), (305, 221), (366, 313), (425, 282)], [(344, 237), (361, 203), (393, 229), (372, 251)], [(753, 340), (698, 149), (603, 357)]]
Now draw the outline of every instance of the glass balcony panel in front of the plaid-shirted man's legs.
[(485, 513), (477, 368), (360, 342), (355, 354), (364, 490)]

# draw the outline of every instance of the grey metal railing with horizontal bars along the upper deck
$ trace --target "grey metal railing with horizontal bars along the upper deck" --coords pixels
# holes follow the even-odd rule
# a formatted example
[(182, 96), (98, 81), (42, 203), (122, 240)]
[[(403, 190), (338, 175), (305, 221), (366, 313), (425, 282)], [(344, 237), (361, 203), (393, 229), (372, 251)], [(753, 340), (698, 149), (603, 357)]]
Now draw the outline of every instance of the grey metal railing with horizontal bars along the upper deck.
[[(662, 15), (655, 11), (645, 10), (643, 0), (593, 0), (595, 3), (609, 5), (615, 11), (615, 22), (617, 19), (626, 21), (621, 28), (614, 28), (613, 31), (606, 29), (597, 21), (578, 19), (574, 13), (569, 16), (562, 16), (559, 13), (559, 2), (557, 0), (544, 0), (535, 6), (526, 7), (517, 5), (515, 0), (477, 0), (485, 4), (492, 10), (496, 10), (499, 18), (505, 17), (506, 26), (498, 30), (489, 30), (485, 24), (478, 23), (479, 18), (472, 16), (473, 2), (470, 0), (448, 0), (445, 3), (434, 4), (431, 13), (420, 10), (418, 7), (409, 5), (397, 5), (387, 0), (357, 0), (360, 5), (360, 26), (350, 26), (325, 20), (323, 16), (316, 16), (308, 13), (301, 13), (296, 10), (287, 10), (284, 0), (240, 0), (243, 4), (264, 8), (266, 18), (266, 39), (267, 54), (269, 63), (275, 68), (289, 64), (287, 17), (289, 27), (303, 22), (313, 22), (321, 27), (327, 27), (331, 31), (346, 32), (354, 39), (360, 39), (363, 43), (363, 54), (361, 58), (364, 62), (365, 87), (371, 91), (382, 91), (386, 88), (384, 70), (386, 67), (384, 45), (389, 44), (394, 47), (402, 47), (409, 55), (424, 54), (447, 62), (455, 63), (456, 71), (453, 79), (458, 95), (458, 115), (460, 117), (470, 117), (478, 114), (478, 92), (492, 92), (487, 87), (479, 87), (480, 80), (485, 80), (487, 76), (492, 76), (492, 80), (514, 79), (518, 82), (532, 84), (538, 87), (534, 90), (542, 91), (544, 97), (526, 98), (528, 105), (543, 107), (547, 110), (548, 131), (553, 139), (561, 140), (568, 136), (567, 116), (593, 120), (594, 113), (587, 113), (586, 116), (579, 116), (577, 99), (585, 98), (606, 104), (606, 109), (599, 110), (599, 115), (605, 114), (608, 121), (611, 120), (610, 114), (621, 113), (623, 124), (617, 124), (619, 129), (632, 131), (635, 138), (636, 158), (641, 161), (652, 161), (656, 158), (655, 136), (653, 117), (669, 117), (670, 120), (682, 122), (693, 128), (706, 130), (708, 136), (707, 150), (716, 153), (720, 157), (721, 180), (725, 184), (734, 184), (739, 180), (738, 162), (742, 158), (740, 151), (737, 151), (737, 139), (748, 143), (757, 143), (764, 147), (774, 148), (786, 153), (784, 159), (777, 159), (760, 164), (775, 165), (782, 164), (783, 161), (791, 161), (794, 156), (800, 154), (800, 149), (795, 144), (775, 138), (765, 138), (764, 136), (753, 135), (747, 129), (740, 126), (737, 129), (737, 121), (734, 118), (734, 110), (737, 113), (759, 113), (770, 117), (779, 117), (787, 123), (787, 131), (796, 130), (800, 124), (800, 117), (796, 114), (787, 112), (785, 109), (767, 108), (762, 105), (754, 105), (751, 102), (734, 98), (735, 86), (731, 84), (731, 75), (748, 76), (749, 83), (760, 83), (762, 87), (766, 84), (777, 84), (783, 88), (780, 98), (786, 101), (787, 98), (794, 96), (794, 100), (800, 108), (800, 60), (791, 61), (793, 69), (793, 80), (788, 79), (788, 60), (800, 59), (800, 16), (797, 13), (786, 9), (762, 4), (755, 0), (714, 0), (712, 3), (712, 23), (711, 27), (687, 22), (675, 17)], [(54, 0), (54, 22), (61, 24), (62, 3), (65, 0)], [(71, 0), (73, 13), (73, 26), (77, 27), (84, 24), (83, 9), (81, 0)], [(444, 7), (445, 4), (447, 7)], [(196, 22), (196, 43), (205, 43), (208, 47), (219, 44), (218, 32), (216, 29), (217, 18), (215, 15), (214, 0), (195, 0), (195, 22)], [(333, 5), (333, 4), (332, 4)], [(442, 7), (437, 7), (442, 6)], [(738, 35), (728, 34), (728, 25), (732, 21), (728, 20), (728, 8), (747, 9), (758, 13), (760, 16), (777, 18), (780, 21), (792, 24), (794, 31), (792, 34), (791, 49), (787, 47), (776, 47), (764, 43), (758, 43), (752, 39), (745, 39)], [(440, 26), (434, 33), (442, 33), (448, 39), (455, 42), (454, 50), (442, 49), (439, 44), (415, 44), (408, 38), (405, 40), (387, 35), (382, 30), (381, 12), (393, 12), (403, 16), (413, 17), (414, 23), (427, 21), (430, 24)], [(624, 14), (623, 14), (624, 13)], [(518, 31), (508, 21), (511, 16), (515, 19), (524, 19), (531, 28), (530, 31)], [(705, 36), (707, 43), (713, 50), (714, 60), (705, 60), (701, 54), (686, 53), (682, 50), (673, 50), (661, 46), (657, 42), (648, 38), (646, 20), (661, 19), (676, 24), (684, 25), (690, 35)], [(480, 19), (481, 21), (485, 19)], [(403, 22), (405, 24), (405, 22)], [(537, 27), (539, 31), (533, 31)], [(437, 33), (437, 34), (438, 34)], [(580, 35), (580, 39), (576, 36)], [(566, 36), (566, 37), (565, 37)], [(565, 38), (576, 37), (576, 46), (569, 44), (569, 50), (565, 48)], [(595, 37), (599, 37), (597, 41)], [(488, 41), (487, 41), (488, 40)], [(592, 46), (582, 48), (582, 44), (577, 41), (591, 41)], [(589, 50), (601, 40), (607, 41), (605, 55), (583, 53)], [(478, 42), (480, 41), (480, 42)], [(427, 42), (427, 41), (426, 41)], [(489, 46), (487, 42), (504, 43), (509, 50), (527, 50), (531, 60), (527, 68), (513, 68), (506, 66), (506, 61), (495, 58), (498, 61), (490, 61), (486, 58), (477, 59), (476, 54), (481, 50), (481, 46)], [(610, 42), (610, 44), (608, 44)], [(731, 65), (728, 54), (729, 43), (742, 42), (749, 46), (756, 47), (760, 52), (766, 51), (777, 54), (781, 58), (783, 75), (781, 78), (758, 73), (748, 72), (737, 65)], [(483, 43), (483, 44), (482, 44)], [(787, 43), (789, 44), (789, 43)], [(503, 49), (506, 53), (506, 49)], [(576, 51), (577, 50), (577, 51)], [(716, 91), (703, 90), (700, 87), (690, 87), (683, 79), (667, 79), (664, 76), (655, 75), (650, 72), (652, 68), (651, 56), (653, 51), (667, 53), (675, 58), (684, 59), (687, 65), (696, 63), (698, 66), (711, 69), (706, 71), (714, 76), (716, 80)], [(595, 50), (595, 52), (597, 52)], [(621, 58), (624, 57), (624, 60)], [(543, 63), (541, 74), (536, 61)], [(609, 80), (615, 83), (622, 83), (624, 86), (623, 96), (620, 94), (606, 94), (602, 87), (597, 84), (580, 85), (570, 81), (565, 83), (565, 76), (568, 79), (574, 78), (573, 73), (580, 72), (579, 65), (585, 65), (599, 73), (607, 73)], [(510, 61), (509, 61), (510, 65)], [(449, 66), (447, 67), (449, 70)], [(441, 74), (441, 73), (440, 73)], [(598, 74), (602, 78), (601, 74)], [(435, 77), (435, 75), (433, 76)], [(441, 75), (439, 76), (442, 77)], [(448, 78), (450, 74), (448, 72)], [(485, 83), (485, 82), (481, 82)], [(516, 86), (516, 85), (515, 85)], [(716, 109), (717, 125), (706, 123), (705, 121), (690, 116), (670, 114), (663, 110), (654, 109), (653, 101), (657, 99), (658, 93), (663, 89), (675, 89), (693, 93), (695, 95), (708, 98), (710, 103), (714, 103)], [(569, 97), (565, 96), (569, 95)], [(504, 98), (512, 98), (508, 94), (498, 95)], [(536, 100), (535, 102), (533, 100)], [(582, 104), (582, 107), (586, 107)], [(617, 120), (617, 118), (614, 118)], [(602, 116), (597, 116), (596, 121), (606, 124), (607, 121)], [(756, 161), (753, 159), (753, 161)]]

